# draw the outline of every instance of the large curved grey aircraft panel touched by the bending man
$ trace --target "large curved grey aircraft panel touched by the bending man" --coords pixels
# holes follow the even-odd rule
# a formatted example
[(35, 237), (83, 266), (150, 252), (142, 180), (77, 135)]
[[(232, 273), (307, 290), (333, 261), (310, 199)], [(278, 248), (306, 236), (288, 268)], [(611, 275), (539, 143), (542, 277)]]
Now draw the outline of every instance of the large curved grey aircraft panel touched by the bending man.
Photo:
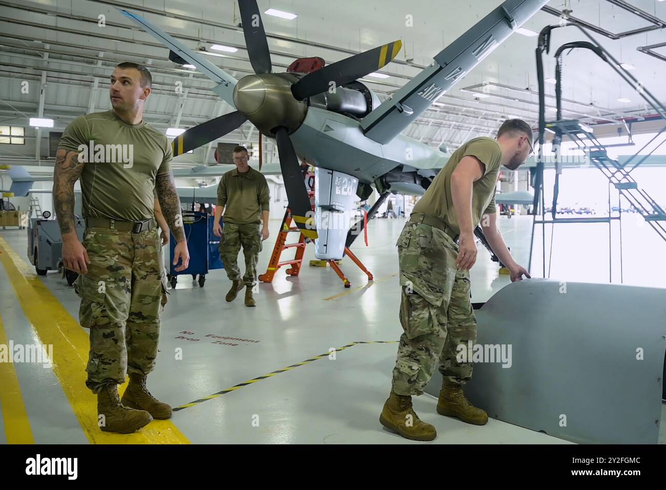
[[(466, 395), (489, 417), (568, 441), (655, 444), (665, 300), (659, 288), (511, 283), (476, 311), (476, 343), (504, 345), (510, 367), (475, 363)], [(436, 370), (426, 392), (441, 383)]]

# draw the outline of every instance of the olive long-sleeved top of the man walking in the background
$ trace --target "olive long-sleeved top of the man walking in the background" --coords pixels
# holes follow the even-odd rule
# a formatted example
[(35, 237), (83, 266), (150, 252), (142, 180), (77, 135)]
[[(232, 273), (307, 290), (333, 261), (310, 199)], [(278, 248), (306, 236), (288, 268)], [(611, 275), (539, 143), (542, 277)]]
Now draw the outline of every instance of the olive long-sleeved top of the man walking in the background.
[(224, 223), (259, 223), (261, 211), (269, 211), (270, 205), (266, 177), (252, 167), (246, 173), (228, 171), (217, 186), (217, 205), (224, 206)]

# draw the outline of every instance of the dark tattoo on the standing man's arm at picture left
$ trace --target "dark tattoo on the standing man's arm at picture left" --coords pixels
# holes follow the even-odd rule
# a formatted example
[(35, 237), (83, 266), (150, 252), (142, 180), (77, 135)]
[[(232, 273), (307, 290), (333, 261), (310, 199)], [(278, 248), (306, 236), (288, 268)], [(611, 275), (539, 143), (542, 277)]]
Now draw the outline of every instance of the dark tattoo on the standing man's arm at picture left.
[(81, 177), (83, 163), (79, 153), (60, 149), (55, 157), (53, 172), (53, 205), (61, 235), (75, 231), (74, 183)]

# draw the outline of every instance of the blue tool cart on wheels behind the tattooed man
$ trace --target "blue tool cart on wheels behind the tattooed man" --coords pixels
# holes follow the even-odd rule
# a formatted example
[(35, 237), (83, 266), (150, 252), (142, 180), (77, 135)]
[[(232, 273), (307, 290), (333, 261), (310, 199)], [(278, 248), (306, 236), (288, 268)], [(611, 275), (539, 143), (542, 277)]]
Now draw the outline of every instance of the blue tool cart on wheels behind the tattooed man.
[[(187, 249), (190, 252), (190, 263), (184, 271), (176, 272), (173, 265), (174, 249), (176, 248), (176, 239), (170, 235), (169, 243), (169, 267), (170, 273), (167, 274), (171, 282), (171, 287), (175, 288), (178, 282), (178, 275), (191, 274), (192, 279), (196, 280), (200, 287), (206, 282), (206, 274), (213, 269), (223, 269), (224, 264), (220, 260), (220, 238), (212, 232), (214, 216), (198, 211), (183, 211), (182, 223), (185, 229), (185, 238), (187, 239)], [(220, 222), (222, 219), (220, 219)], [(177, 265), (177, 264), (176, 264)]]

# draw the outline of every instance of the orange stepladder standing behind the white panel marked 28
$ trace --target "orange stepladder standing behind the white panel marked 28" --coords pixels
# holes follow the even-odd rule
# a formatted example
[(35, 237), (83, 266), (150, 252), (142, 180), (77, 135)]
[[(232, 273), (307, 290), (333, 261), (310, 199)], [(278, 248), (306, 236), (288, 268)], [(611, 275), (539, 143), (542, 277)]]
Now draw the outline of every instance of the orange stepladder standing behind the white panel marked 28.
[[(314, 211), (314, 206), (312, 207), (312, 210)], [(306, 237), (302, 233), (300, 233), (299, 229), (297, 227), (292, 227), (292, 217), (290, 210), (287, 208), (287, 210), (284, 212), (284, 219), (282, 219), (282, 226), (280, 227), (280, 233), (278, 233), (278, 239), (275, 241), (275, 247), (273, 247), (273, 253), (270, 255), (270, 262), (268, 263), (268, 268), (266, 269), (266, 273), (260, 274), (259, 275), (259, 280), (262, 281), (262, 283), (270, 283), (273, 281), (273, 277), (275, 276), (275, 273), (280, 269), (280, 267), (284, 265), (290, 265), (289, 269), (286, 270), (286, 273), (288, 275), (293, 275), (297, 276), (300, 273), (300, 267), (303, 263), (303, 255), (305, 254), (305, 245), (307, 244)], [(286, 238), (289, 233), (294, 233), (298, 232), (300, 234), (300, 237), (298, 239), (298, 242), (296, 243), (286, 243)], [(296, 255), (294, 255), (294, 259), (290, 261), (284, 261), (280, 262), (280, 255), (282, 255), (282, 251), (286, 249), (291, 249), (295, 248), (296, 249)], [(364, 271), (368, 275), (368, 280), (372, 281), (373, 277), (370, 271), (366, 269), (366, 267), (363, 265), (363, 263), (352, 253), (350, 249), (347, 247), (344, 248), (344, 253), (347, 255), (352, 261), (358, 265), (358, 268)], [(342, 279), (342, 283), (344, 284), (344, 287), (351, 287), (351, 283), (349, 282), (349, 279), (344, 275), (342, 272), (342, 269), (340, 269), (340, 266), (336, 261), (334, 260), (327, 260), (328, 264), (331, 266), (331, 268), (335, 271), (335, 273)]]

